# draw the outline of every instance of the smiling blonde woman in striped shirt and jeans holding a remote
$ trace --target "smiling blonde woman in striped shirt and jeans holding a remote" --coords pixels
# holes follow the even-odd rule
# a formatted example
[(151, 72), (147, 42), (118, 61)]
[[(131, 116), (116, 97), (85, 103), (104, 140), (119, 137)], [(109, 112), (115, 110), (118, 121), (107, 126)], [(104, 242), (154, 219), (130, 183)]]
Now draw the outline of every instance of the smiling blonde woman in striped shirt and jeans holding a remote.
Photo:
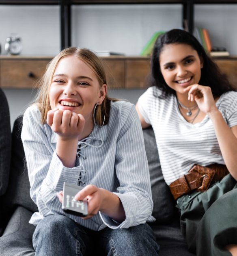
[[(36, 104), (23, 119), (30, 195), (39, 212), (39, 256), (152, 255), (153, 202), (142, 128), (133, 104), (107, 96), (106, 74), (91, 51), (68, 48), (48, 65)], [(62, 211), (63, 183), (84, 187), (88, 215)]]

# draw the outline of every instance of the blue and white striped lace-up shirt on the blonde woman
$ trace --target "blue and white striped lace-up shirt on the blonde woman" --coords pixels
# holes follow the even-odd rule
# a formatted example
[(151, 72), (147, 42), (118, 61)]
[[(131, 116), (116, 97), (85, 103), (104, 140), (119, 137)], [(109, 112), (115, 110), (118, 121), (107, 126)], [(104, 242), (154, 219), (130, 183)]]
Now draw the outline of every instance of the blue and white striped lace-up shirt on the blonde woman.
[[(66, 215), (91, 230), (129, 228), (145, 223), (151, 216), (153, 202), (142, 128), (133, 104), (111, 102), (110, 119), (83, 141), (74, 168), (63, 166), (56, 154), (57, 134), (48, 124), (41, 124), (36, 105), (30, 106), (23, 119), (22, 141), (30, 180), (30, 196), (37, 204), (30, 223), (37, 225), (48, 215)], [(99, 212), (84, 220), (65, 214), (56, 196), (63, 182), (86, 186), (93, 184), (115, 193), (120, 198), (126, 219), (113, 221)], [(153, 217), (150, 217), (151, 220)]]

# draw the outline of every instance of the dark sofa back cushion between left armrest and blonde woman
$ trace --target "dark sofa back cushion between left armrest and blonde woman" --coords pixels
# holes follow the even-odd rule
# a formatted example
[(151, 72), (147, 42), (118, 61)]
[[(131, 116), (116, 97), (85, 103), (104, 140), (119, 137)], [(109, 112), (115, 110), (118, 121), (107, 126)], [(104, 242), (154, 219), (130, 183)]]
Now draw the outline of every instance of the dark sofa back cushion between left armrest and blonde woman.
[(30, 182), (21, 139), (22, 119), (23, 116), (20, 116), (15, 120), (12, 132), (9, 186), (2, 198), (4, 204), (2, 215), (6, 222), (17, 206), (23, 206), (31, 212), (38, 211), (37, 205), (30, 198)]

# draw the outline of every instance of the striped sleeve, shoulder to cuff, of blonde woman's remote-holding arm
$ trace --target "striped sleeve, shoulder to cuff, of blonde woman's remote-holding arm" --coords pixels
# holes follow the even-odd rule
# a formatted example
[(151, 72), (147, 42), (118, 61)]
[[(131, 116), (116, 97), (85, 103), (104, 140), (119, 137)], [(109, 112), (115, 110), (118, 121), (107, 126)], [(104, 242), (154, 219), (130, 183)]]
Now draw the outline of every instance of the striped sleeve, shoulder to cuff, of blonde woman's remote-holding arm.
[(145, 154), (142, 128), (134, 105), (131, 111), (126, 108), (121, 119), (126, 118), (116, 145), (115, 170), (119, 180), (118, 193), (125, 210), (126, 219), (116, 223), (100, 213), (109, 228), (129, 228), (145, 223), (151, 216), (153, 201), (147, 157)]

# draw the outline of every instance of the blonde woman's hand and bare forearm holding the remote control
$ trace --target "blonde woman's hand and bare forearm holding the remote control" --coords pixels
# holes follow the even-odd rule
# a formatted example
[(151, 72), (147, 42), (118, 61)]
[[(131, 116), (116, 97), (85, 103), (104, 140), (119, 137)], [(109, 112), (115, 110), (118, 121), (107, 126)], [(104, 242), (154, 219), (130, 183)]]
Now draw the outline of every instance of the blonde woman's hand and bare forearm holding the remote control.
[[(57, 193), (57, 196), (62, 203), (62, 191)], [(118, 222), (125, 220), (125, 211), (119, 197), (106, 189), (99, 189), (94, 185), (87, 185), (74, 198), (78, 201), (87, 198), (88, 215), (82, 217), (82, 219), (89, 219), (100, 211)]]

